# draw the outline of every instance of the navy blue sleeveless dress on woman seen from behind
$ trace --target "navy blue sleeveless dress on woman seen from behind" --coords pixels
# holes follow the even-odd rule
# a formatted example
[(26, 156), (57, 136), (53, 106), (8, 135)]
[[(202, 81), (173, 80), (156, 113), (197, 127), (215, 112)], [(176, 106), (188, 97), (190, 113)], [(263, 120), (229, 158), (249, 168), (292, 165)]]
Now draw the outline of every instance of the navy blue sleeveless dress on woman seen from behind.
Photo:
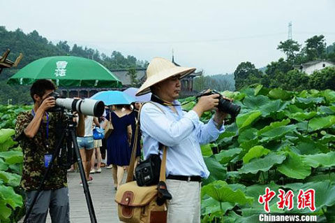
[(128, 115), (117, 116), (114, 112), (107, 115), (112, 118), (113, 131), (107, 138), (107, 165), (128, 166), (131, 161), (131, 149), (128, 145), (127, 127), (131, 124)]

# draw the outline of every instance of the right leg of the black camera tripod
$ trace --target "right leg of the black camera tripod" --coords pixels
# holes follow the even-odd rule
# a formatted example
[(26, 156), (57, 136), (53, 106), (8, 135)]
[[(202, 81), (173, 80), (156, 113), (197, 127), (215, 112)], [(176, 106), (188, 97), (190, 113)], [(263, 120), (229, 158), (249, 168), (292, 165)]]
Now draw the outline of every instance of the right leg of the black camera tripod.
[(82, 187), (84, 188), (84, 194), (86, 198), (87, 208), (89, 209), (89, 217), (91, 218), (91, 223), (96, 223), (96, 213), (94, 213), (94, 206), (91, 199), (91, 194), (89, 192), (89, 185), (87, 184), (84, 167), (82, 166), (82, 159), (80, 157), (80, 152), (77, 144), (77, 139), (75, 137), (75, 130), (70, 131), (73, 147), (75, 149), (75, 154), (77, 156), (77, 163), (80, 171), (80, 178), (82, 178)]

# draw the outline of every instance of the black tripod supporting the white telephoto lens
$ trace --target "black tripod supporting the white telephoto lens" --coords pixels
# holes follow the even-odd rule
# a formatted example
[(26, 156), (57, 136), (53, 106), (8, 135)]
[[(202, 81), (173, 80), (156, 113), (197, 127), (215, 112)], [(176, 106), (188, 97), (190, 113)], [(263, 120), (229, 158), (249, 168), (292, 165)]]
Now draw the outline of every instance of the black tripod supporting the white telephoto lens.
[[(64, 113), (64, 110), (62, 110), (62, 113)], [(82, 186), (84, 189), (84, 194), (86, 198), (86, 203), (87, 203), (87, 208), (89, 209), (89, 217), (91, 219), (91, 223), (96, 223), (96, 214), (94, 213), (94, 206), (92, 203), (91, 199), (91, 194), (89, 192), (89, 185), (87, 184), (86, 177), (85, 177), (85, 172), (84, 172), (84, 167), (82, 166), (82, 159), (80, 157), (80, 152), (77, 144), (77, 138), (75, 136), (75, 127), (76, 123), (73, 122), (73, 115), (72, 114), (67, 114), (68, 116), (68, 121), (65, 123), (59, 121), (59, 124), (57, 126), (57, 129), (61, 136), (57, 138), (57, 143), (56, 143), (56, 149), (54, 150), (54, 153), (52, 154), (52, 159), (50, 161), (50, 164), (47, 166), (47, 169), (45, 171), (45, 174), (43, 175), (43, 179), (40, 182), (40, 185), (38, 187), (38, 190), (32, 199), (31, 206), (29, 206), (29, 209), (27, 210), (26, 216), (24, 217), (24, 223), (27, 223), (28, 217), (31, 213), (31, 210), (33, 210), (34, 204), (36, 203), (36, 200), (38, 198), (38, 194), (43, 190), (44, 182), (47, 180), (47, 177), (50, 174), (50, 170), (54, 164), (54, 160), (56, 157), (61, 157), (61, 153), (66, 152), (67, 153), (67, 159), (70, 161), (70, 164), (73, 164), (75, 161), (75, 158), (77, 158), (77, 163), (78, 167), (80, 170), (80, 178), (82, 178)], [(64, 131), (65, 130), (65, 131)], [(66, 148), (62, 149), (64, 138), (66, 139)], [(73, 145), (73, 148), (72, 148)]]

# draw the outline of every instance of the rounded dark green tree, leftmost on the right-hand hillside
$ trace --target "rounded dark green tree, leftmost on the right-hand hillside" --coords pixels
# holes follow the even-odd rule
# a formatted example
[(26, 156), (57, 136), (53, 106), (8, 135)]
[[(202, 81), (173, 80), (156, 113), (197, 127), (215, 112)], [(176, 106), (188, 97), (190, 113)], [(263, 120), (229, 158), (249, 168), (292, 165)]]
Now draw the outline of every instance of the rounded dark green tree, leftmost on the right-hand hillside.
[(241, 62), (234, 71), (235, 88), (241, 89), (248, 85), (260, 83), (262, 72), (255, 68), (251, 62)]

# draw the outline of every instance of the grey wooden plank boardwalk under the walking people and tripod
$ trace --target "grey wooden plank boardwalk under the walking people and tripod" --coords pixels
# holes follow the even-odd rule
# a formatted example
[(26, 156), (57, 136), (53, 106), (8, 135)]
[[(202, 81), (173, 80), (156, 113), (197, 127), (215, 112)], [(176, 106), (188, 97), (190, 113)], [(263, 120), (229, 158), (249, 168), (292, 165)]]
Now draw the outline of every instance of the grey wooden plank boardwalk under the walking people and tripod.
[[(99, 223), (119, 223), (117, 206), (114, 202), (116, 191), (114, 190), (112, 171), (106, 168), (101, 169), (101, 173), (91, 175), (94, 178), (94, 182), (89, 185), (96, 220)], [(126, 175), (124, 179), (125, 177)], [(70, 197), (70, 222), (90, 223), (84, 189), (80, 186), (80, 173), (68, 173), (68, 190), (68, 196)], [(20, 222), (23, 222), (23, 220)], [(47, 223), (51, 223), (50, 215), (47, 216)]]

